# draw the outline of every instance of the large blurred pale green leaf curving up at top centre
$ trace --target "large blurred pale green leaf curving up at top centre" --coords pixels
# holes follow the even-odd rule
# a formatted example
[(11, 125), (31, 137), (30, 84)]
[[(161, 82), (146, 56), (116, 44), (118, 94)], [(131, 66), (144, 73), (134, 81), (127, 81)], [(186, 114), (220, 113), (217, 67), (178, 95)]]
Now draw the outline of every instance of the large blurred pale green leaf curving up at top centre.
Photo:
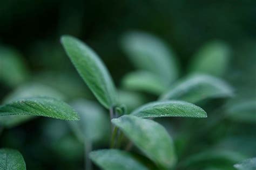
[(177, 79), (176, 55), (157, 37), (143, 32), (126, 33), (122, 47), (137, 68), (157, 74), (165, 85)]

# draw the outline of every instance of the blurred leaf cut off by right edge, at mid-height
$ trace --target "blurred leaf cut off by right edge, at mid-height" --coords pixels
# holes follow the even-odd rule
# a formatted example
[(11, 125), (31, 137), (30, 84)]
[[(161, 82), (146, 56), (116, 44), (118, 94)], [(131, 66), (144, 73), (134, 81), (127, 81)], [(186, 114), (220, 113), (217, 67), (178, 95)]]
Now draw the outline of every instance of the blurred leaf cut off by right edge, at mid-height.
[(228, 107), (227, 113), (234, 121), (256, 123), (256, 101), (233, 103)]

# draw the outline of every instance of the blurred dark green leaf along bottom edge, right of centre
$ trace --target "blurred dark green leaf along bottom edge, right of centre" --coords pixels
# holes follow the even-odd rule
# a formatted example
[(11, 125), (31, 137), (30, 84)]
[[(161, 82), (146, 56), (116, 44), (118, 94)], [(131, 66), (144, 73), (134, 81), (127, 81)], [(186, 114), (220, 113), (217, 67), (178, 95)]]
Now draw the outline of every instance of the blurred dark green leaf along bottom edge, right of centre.
[(207, 150), (196, 153), (181, 161), (181, 169), (203, 169), (211, 165), (227, 166), (233, 165), (234, 162), (243, 160), (245, 157), (237, 152), (227, 150)]

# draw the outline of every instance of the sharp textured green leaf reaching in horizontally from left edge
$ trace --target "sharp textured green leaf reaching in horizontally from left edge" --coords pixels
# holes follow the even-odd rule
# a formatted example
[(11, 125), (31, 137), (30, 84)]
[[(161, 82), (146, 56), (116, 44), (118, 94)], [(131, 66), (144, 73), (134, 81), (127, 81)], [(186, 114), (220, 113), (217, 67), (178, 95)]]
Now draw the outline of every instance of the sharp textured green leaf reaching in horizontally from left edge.
[(30, 97), (0, 106), (0, 116), (32, 115), (78, 121), (77, 113), (66, 103), (51, 97)]

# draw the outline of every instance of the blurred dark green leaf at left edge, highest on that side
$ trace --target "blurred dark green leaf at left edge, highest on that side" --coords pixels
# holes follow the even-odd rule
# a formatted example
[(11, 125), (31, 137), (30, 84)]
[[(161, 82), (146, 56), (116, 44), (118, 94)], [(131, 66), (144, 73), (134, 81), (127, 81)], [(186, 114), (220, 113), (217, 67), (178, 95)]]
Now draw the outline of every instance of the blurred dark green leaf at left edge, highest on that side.
[(28, 78), (28, 69), (22, 55), (15, 49), (0, 47), (0, 81), (15, 87)]

